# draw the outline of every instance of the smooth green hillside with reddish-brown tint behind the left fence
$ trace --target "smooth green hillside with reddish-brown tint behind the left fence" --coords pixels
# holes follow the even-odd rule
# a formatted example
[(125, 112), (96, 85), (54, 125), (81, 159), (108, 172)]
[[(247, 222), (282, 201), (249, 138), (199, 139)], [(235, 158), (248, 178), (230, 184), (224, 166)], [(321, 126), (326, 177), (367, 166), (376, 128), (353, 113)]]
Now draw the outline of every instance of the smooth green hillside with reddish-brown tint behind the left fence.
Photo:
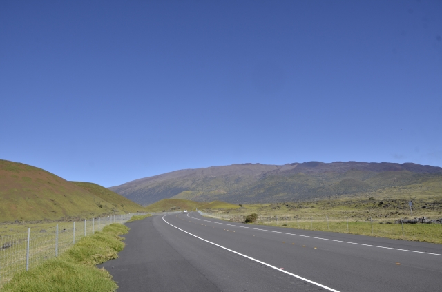
[[(113, 213), (113, 209), (116, 213), (128, 211), (120, 206), (128, 204), (127, 199), (108, 195), (108, 202), (103, 199), (105, 194), (97, 191), (101, 187), (95, 186), (89, 186), (88, 191), (41, 168), (0, 159), (0, 222), (85, 218)], [(131, 206), (128, 204), (128, 208)]]

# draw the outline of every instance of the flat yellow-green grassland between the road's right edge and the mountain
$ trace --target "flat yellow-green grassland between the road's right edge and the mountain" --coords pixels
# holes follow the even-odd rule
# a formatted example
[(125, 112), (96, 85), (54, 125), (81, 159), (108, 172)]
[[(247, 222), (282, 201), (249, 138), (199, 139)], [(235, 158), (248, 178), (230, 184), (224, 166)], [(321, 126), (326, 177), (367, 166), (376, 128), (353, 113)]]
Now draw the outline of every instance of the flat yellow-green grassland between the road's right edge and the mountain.
[(204, 215), (244, 222), (256, 213), (255, 224), (333, 231), (442, 244), (442, 224), (401, 224), (414, 217), (442, 218), (442, 197), (404, 199), (344, 198), (309, 202), (251, 204), (228, 210), (202, 208)]

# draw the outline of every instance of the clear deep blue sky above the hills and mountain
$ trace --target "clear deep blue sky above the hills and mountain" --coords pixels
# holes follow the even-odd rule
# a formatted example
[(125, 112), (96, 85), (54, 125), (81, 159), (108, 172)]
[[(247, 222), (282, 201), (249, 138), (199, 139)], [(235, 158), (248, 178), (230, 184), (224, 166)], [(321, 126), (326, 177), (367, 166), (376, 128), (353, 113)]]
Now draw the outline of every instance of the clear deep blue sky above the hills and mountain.
[(442, 1), (0, 1), (0, 159), (115, 186), (442, 166)]

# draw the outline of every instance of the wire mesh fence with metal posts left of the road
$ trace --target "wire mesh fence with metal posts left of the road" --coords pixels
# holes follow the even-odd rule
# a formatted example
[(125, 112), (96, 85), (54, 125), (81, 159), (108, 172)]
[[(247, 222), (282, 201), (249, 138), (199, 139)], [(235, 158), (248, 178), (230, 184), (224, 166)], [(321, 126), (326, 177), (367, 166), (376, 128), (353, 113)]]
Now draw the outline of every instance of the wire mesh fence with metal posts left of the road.
[(28, 228), (27, 233), (0, 236), (0, 287), (15, 273), (28, 271), (52, 257), (57, 257), (82, 237), (102, 231), (109, 224), (123, 224), (133, 216), (148, 214), (167, 213), (109, 215), (91, 220), (61, 222), (46, 230)]

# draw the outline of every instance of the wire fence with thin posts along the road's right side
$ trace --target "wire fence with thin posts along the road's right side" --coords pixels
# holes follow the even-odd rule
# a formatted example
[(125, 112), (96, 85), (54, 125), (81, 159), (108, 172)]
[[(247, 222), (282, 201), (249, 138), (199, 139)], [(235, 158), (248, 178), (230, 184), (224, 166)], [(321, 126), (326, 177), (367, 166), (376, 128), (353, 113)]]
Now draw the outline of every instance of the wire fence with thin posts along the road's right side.
[[(222, 214), (217, 212), (200, 212), (205, 217), (213, 217), (231, 222), (244, 222), (244, 215)], [(388, 220), (366, 220), (355, 218), (337, 218), (329, 216), (298, 216), (298, 215), (258, 215), (255, 224), (281, 226), (314, 231), (332, 231), (388, 237), (394, 239), (417, 240), (442, 244), (442, 219), (429, 220), (425, 217), (413, 220), (395, 218)]]

